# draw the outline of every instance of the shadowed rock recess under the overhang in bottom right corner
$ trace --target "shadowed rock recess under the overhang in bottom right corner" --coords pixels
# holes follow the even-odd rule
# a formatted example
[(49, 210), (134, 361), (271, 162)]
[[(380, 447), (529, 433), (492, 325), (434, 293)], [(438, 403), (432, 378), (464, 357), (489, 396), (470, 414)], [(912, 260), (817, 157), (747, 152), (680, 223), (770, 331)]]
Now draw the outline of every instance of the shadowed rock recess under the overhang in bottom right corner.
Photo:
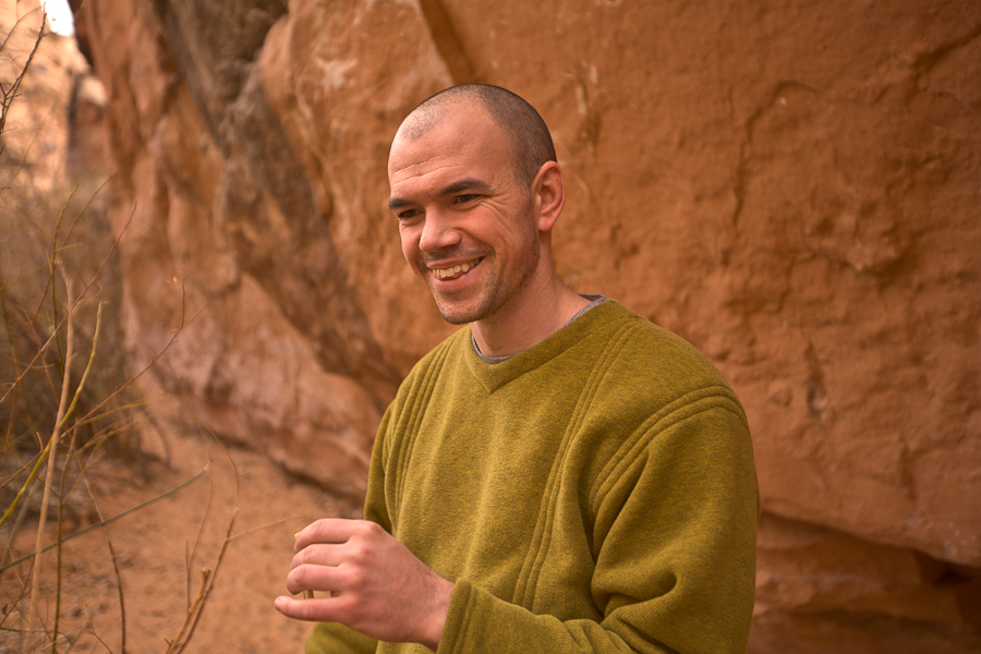
[[(882, 651), (895, 641), (892, 651), (956, 653), (981, 644), (979, 568), (764, 513), (758, 569), (751, 652), (771, 651), (770, 639), (846, 625), (858, 638), (836, 651)], [(773, 615), (777, 605), (786, 615)]]

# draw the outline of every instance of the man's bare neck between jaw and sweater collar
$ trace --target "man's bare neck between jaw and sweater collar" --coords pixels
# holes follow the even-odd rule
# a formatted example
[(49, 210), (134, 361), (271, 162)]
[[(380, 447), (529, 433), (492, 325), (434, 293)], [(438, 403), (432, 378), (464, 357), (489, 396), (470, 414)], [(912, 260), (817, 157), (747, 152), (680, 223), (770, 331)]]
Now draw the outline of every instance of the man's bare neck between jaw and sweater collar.
[(487, 356), (507, 356), (542, 342), (569, 322), (589, 300), (557, 277), (544, 288), (528, 289), (495, 315), (471, 323), (474, 341)]

